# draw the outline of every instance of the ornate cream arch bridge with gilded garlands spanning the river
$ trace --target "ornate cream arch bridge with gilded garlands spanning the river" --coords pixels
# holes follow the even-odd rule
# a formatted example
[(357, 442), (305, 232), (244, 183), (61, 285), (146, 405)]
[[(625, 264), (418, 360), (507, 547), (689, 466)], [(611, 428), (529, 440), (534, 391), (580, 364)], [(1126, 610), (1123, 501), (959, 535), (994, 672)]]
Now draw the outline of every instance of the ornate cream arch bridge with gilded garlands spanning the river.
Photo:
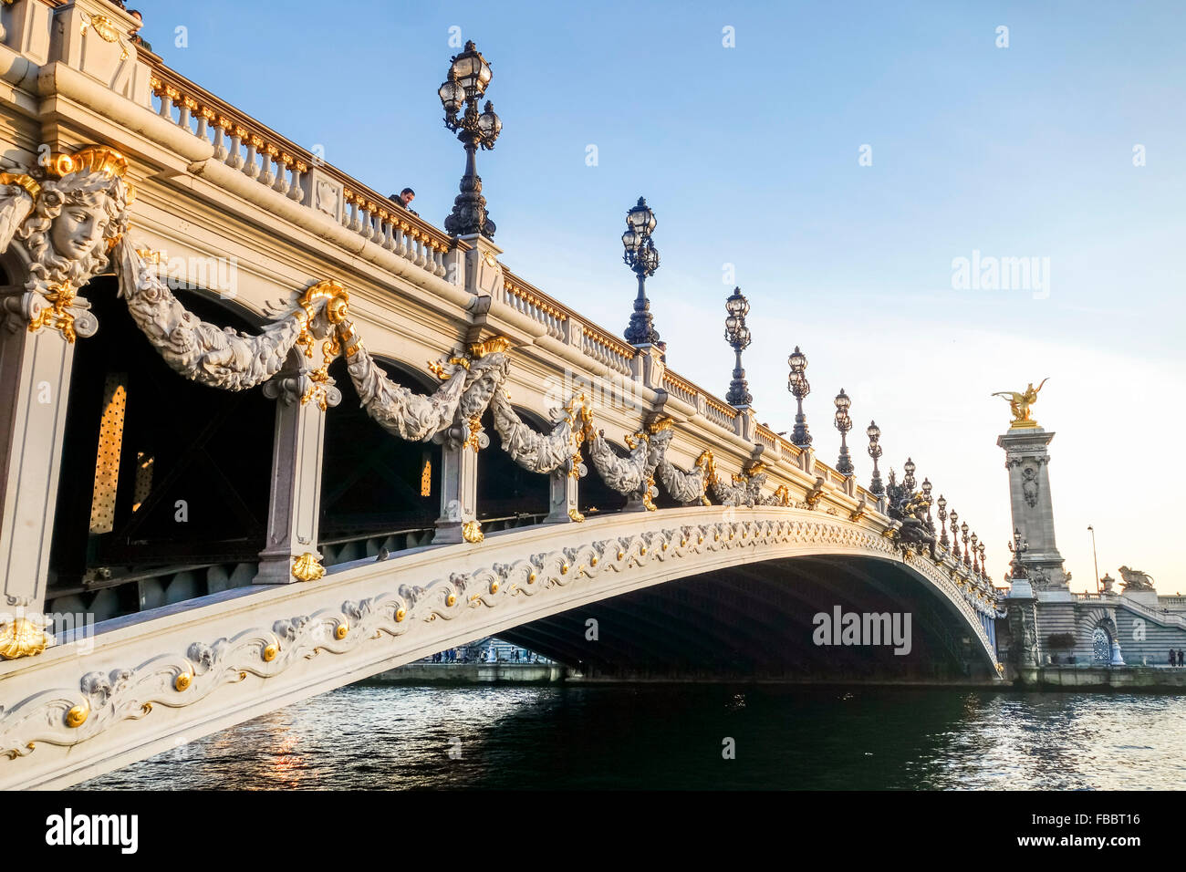
[(490, 635), (591, 676), (1000, 681), (983, 545), (913, 464), (862, 486), (104, 0), (0, 26), (0, 787)]

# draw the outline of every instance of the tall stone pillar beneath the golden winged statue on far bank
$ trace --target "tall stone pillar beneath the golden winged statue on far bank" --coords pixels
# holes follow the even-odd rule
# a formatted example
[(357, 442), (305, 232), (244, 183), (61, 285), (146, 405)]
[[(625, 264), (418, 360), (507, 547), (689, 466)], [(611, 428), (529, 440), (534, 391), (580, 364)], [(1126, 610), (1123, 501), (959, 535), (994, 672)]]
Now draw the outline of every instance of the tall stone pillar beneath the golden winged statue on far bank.
[(1028, 550), (1021, 561), (1034, 591), (1067, 590), (1063, 555), (1054, 543), (1054, 508), (1050, 495), (1047, 446), (1054, 438), (1041, 427), (1014, 427), (997, 437), (1009, 473), (1013, 527)]

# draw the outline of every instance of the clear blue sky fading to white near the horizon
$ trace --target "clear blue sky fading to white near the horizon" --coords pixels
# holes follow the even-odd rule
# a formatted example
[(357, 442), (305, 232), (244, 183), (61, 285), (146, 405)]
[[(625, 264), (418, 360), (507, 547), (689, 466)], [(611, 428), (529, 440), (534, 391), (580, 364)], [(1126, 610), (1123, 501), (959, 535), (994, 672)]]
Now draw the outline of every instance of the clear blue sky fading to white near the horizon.
[[(1033, 412), (1057, 433), (1072, 588), (1095, 590), (1092, 524), (1099, 574), (1186, 591), (1180, 4), (142, 6), (170, 66), (371, 187), (414, 187), (438, 227), (464, 153), (436, 88), (473, 39), (503, 120), (478, 172), (518, 275), (620, 335), (636, 292), (620, 235), (645, 196), (670, 368), (725, 395), (740, 285), (758, 420), (792, 426), (802, 346), (818, 456), (835, 463), (844, 388), (860, 479), (876, 419), (882, 473), (912, 457), (997, 583), (1009, 414), (990, 394), (1048, 377)], [(961, 282), (974, 256), (1035, 269), (1022, 288)]]

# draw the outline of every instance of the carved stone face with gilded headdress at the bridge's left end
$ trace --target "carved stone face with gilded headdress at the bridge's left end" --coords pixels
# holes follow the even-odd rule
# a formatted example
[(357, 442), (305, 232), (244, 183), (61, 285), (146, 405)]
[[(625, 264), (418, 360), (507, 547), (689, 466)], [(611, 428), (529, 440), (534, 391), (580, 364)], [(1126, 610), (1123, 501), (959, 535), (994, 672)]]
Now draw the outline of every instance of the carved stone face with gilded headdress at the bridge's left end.
[(0, 173), (0, 252), (19, 244), (28, 259), (25, 293), (4, 300), (9, 329), (52, 329), (66, 342), (94, 336), (98, 322), (78, 288), (108, 267), (128, 229), (127, 159), (94, 146), (51, 155), (30, 172)]

